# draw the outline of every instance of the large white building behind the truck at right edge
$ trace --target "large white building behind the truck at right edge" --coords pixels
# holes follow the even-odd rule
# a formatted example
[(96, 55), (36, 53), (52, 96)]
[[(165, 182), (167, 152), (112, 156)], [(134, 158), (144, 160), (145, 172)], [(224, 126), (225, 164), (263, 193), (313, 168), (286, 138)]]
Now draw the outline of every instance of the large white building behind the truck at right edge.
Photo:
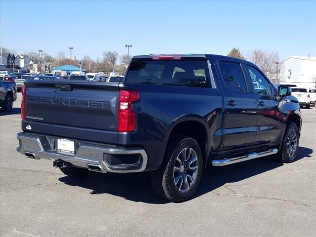
[(316, 57), (291, 56), (282, 62), (281, 83), (293, 83), (303, 88), (316, 88)]

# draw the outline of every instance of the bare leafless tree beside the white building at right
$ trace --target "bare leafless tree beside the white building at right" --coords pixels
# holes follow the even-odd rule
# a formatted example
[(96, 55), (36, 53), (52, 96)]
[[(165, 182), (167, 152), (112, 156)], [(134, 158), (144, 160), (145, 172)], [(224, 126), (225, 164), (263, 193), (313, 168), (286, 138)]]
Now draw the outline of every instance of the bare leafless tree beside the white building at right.
[(276, 51), (254, 49), (248, 53), (248, 60), (257, 65), (274, 83), (278, 83), (284, 71)]

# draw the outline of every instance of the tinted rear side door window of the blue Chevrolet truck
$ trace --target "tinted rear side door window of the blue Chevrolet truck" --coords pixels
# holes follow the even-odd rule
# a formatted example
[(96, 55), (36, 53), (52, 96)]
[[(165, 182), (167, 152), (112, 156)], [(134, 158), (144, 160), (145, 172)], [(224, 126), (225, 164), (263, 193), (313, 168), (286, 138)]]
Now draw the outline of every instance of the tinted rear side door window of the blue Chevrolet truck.
[(241, 65), (235, 62), (220, 61), (225, 85), (235, 92), (247, 92), (247, 86)]

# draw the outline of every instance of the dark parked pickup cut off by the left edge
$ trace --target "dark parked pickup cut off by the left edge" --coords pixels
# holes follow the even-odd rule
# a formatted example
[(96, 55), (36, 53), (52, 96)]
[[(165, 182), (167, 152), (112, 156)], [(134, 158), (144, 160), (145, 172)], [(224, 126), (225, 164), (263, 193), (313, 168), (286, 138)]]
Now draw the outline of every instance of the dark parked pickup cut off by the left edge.
[[(3, 74), (4, 75), (4, 74)], [(12, 110), (13, 102), (16, 100), (16, 84), (8, 77), (0, 77), (0, 107), (2, 111)]]

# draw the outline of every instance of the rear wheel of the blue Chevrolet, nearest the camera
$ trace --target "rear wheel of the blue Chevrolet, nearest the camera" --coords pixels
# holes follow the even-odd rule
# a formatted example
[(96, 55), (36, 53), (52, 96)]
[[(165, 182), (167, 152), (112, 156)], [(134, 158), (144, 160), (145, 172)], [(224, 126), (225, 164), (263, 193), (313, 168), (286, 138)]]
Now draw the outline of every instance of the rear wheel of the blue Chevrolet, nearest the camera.
[[(179, 160), (183, 157), (185, 157), (184, 160), (188, 159), (181, 164)], [(193, 160), (195, 161), (193, 162)], [(188, 163), (190, 164), (188, 165)], [(180, 165), (178, 166), (178, 164)], [(192, 164), (193, 168), (191, 167)], [(196, 171), (193, 171), (196, 167)], [(174, 137), (167, 146), (160, 168), (151, 173), (153, 188), (157, 195), (162, 198), (173, 202), (185, 201), (197, 191), (202, 175), (202, 167), (203, 158), (197, 141), (186, 136)], [(175, 171), (177, 169), (178, 171)], [(179, 179), (177, 179), (178, 177)], [(176, 179), (180, 184), (178, 182), (176, 184)], [(183, 187), (182, 191), (181, 187)], [(186, 190), (186, 188), (189, 189)]]

